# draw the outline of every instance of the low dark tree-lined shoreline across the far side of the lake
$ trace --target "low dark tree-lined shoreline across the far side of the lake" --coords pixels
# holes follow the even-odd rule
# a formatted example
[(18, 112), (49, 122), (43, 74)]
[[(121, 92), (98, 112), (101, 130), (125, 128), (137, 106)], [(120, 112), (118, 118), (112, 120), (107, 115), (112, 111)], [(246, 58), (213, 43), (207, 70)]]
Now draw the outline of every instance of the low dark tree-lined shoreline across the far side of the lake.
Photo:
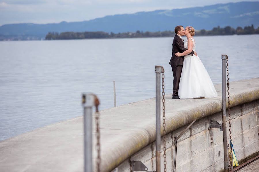
[[(197, 30), (195, 36), (226, 36), (226, 35), (252, 35), (259, 34), (259, 27), (254, 28), (254, 25), (245, 26), (244, 28), (237, 27), (236, 29), (226, 26), (225, 28), (215, 27), (212, 30)], [(82, 40), (82, 39), (122, 39), (122, 38), (166, 38), (174, 37), (173, 31), (158, 31), (158, 32), (123, 32), (115, 34), (113, 32), (49, 32), (45, 39), (39, 36), (29, 35), (0, 35), (0, 41), (24, 41), (24, 40)]]

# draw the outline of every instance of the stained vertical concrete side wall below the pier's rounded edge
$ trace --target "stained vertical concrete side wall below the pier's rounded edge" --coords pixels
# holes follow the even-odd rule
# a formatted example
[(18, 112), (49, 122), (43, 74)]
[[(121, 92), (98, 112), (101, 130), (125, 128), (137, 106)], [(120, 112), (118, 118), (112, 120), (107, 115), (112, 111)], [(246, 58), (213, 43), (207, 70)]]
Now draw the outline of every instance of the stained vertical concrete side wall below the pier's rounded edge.
[[(259, 154), (259, 100), (237, 105), (231, 108), (232, 143), (238, 161)], [(228, 112), (228, 111), (227, 111)], [(227, 113), (227, 132), (229, 138), (229, 122)], [(177, 144), (177, 172), (224, 171), (223, 132), (217, 128), (209, 128), (209, 120), (222, 123), (222, 112), (197, 120)], [(167, 171), (172, 171), (175, 143), (178, 136), (188, 125), (166, 135)], [(161, 139), (162, 140), (162, 139)], [(228, 142), (229, 143), (229, 142)], [(118, 171), (130, 171), (130, 161), (141, 161), (149, 171), (155, 171), (155, 142), (152, 142), (117, 167)], [(161, 144), (162, 145), (162, 144)], [(161, 147), (161, 171), (163, 166), (163, 148)]]

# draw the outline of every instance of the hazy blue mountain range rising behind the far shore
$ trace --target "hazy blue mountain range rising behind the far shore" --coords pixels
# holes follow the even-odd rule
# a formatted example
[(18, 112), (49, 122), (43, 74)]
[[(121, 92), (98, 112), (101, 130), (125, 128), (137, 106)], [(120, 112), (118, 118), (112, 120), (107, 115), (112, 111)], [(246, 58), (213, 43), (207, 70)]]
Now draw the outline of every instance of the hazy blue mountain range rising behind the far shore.
[(175, 26), (193, 26), (211, 30), (213, 27), (259, 26), (259, 2), (238, 2), (191, 7), (184, 9), (156, 10), (133, 14), (108, 15), (88, 21), (51, 24), (5, 24), (0, 35), (37, 36), (45, 38), (48, 32), (136, 32), (174, 30)]

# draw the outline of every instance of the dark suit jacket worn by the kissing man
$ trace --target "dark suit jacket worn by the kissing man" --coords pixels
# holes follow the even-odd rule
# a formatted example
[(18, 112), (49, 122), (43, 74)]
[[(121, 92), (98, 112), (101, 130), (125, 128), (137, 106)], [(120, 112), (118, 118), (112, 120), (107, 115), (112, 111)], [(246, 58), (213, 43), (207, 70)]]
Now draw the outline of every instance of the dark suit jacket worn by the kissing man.
[[(171, 59), (169, 61), (169, 64), (171, 65), (183, 65), (184, 63), (184, 56), (177, 57), (175, 56), (176, 52), (185, 52), (187, 49), (184, 48), (184, 42), (180, 38), (180, 36), (175, 34), (175, 37), (173, 38), (173, 54), (171, 56)], [(189, 55), (193, 56), (194, 51), (192, 51)]]

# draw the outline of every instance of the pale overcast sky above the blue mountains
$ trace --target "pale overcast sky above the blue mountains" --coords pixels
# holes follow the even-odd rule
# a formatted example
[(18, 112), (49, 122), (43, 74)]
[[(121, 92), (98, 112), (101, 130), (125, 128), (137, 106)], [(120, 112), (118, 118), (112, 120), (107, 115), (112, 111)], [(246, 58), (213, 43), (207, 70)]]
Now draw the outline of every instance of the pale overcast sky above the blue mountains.
[(11, 23), (84, 21), (105, 15), (240, 1), (242, 0), (0, 0), (0, 26)]

